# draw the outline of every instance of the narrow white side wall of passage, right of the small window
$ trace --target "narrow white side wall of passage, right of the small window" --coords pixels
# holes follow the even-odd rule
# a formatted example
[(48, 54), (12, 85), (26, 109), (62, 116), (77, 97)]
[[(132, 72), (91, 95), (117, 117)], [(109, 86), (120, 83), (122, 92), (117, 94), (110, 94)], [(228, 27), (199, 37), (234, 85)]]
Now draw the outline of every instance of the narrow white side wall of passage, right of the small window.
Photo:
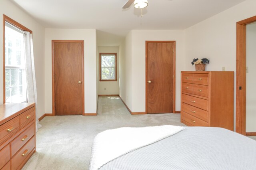
[(132, 31), (119, 46), (119, 95), (132, 110)]

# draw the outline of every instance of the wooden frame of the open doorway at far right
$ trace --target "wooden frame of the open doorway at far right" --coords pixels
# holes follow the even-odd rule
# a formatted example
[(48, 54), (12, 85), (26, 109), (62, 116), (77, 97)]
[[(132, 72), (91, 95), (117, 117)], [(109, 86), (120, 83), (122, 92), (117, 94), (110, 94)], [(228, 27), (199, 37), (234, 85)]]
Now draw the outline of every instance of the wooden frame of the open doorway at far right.
[[(236, 22), (236, 132), (246, 135), (246, 25), (256, 16)], [(239, 89), (241, 87), (241, 90)]]

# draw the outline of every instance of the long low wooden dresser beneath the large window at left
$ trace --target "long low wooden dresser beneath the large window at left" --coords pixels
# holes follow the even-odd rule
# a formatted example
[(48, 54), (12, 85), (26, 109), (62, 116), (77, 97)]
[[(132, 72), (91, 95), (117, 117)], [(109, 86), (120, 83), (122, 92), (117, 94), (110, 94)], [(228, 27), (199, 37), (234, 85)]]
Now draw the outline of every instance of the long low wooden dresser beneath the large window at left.
[(35, 151), (35, 104), (0, 105), (0, 170), (20, 170)]

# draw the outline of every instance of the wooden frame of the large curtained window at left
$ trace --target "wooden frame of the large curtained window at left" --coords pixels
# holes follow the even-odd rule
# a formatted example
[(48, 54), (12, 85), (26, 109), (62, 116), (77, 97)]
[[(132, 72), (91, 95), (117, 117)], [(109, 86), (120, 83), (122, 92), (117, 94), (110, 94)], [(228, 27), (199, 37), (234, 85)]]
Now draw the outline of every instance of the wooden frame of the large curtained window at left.
[(19, 28), (22, 31), (28, 31), (32, 34), (32, 31), (28, 28), (26, 28), (25, 26), (23, 26), (22, 24), (16, 22), (15, 20), (13, 20), (12, 18), (6, 16), (3, 14), (3, 103), (5, 103), (5, 22), (8, 22), (14, 26), (16, 26), (17, 28)]

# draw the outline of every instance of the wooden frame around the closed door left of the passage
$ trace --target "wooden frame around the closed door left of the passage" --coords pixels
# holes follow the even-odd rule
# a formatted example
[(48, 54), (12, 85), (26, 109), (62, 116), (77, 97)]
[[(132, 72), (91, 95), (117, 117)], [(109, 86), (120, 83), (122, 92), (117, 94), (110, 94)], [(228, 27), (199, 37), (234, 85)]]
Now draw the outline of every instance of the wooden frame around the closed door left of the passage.
[(82, 43), (82, 115), (84, 115), (84, 40), (52, 40), (52, 116), (55, 116), (54, 42), (81, 42)]

